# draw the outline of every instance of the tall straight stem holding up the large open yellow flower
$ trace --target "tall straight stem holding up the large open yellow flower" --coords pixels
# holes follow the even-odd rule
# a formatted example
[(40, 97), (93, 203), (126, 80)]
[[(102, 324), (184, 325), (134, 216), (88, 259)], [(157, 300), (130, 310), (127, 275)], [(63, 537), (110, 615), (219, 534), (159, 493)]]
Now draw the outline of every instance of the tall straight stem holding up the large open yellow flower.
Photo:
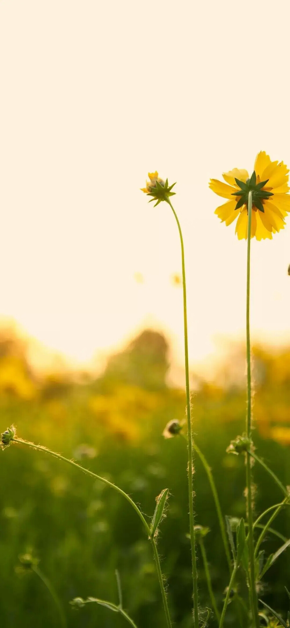
[[(247, 232), (247, 437), (252, 434), (252, 387), (250, 371), (250, 236), (252, 225), (252, 191), (248, 198), (248, 232)], [(252, 512), (252, 472), (250, 467), (250, 453), (247, 452), (246, 462), (247, 479), (247, 518), (249, 525), (249, 558), (250, 558), (250, 588), (252, 589), (252, 614), (255, 628), (259, 628), (258, 600), (255, 588), (255, 559), (254, 559), (254, 534), (253, 534), (253, 512)]]

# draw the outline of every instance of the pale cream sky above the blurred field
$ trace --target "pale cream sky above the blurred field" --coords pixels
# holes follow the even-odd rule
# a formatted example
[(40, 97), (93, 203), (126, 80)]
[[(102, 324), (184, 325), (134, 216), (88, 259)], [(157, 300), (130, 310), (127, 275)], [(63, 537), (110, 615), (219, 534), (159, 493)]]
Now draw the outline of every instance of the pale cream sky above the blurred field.
[[(79, 364), (144, 327), (183, 364), (180, 241), (148, 205), (176, 183), (190, 363), (245, 335), (246, 242), (208, 188), (290, 165), (290, 3), (0, 0), (0, 317)], [(290, 218), (252, 241), (252, 338), (290, 341)], [(226, 338), (229, 338), (228, 341)]]

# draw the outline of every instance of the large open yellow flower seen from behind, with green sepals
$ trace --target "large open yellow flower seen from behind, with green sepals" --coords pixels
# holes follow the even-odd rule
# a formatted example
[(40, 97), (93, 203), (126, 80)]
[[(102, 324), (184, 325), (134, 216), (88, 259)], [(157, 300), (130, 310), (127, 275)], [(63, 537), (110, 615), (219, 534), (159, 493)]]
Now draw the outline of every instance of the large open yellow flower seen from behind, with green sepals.
[(226, 183), (211, 179), (210, 189), (218, 196), (228, 198), (227, 203), (217, 207), (215, 214), (226, 225), (237, 218), (235, 232), (239, 240), (247, 239), (247, 200), (252, 190), (251, 237), (272, 239), (272, 234), (284, 229), (284, 217), (290, 212), (288, 172), (282, 161), (271, 161), (265, 151), (260, 151), (250, 178), (247, 170), (234, 168), (223, 174)]

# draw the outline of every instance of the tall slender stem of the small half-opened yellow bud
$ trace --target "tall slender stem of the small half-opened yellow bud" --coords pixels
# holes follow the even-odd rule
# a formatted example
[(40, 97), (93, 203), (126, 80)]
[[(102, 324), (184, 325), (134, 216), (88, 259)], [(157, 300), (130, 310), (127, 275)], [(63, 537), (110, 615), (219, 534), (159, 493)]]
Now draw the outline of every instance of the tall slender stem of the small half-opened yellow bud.
[(180, 222), (173, 206), (168, 198), (180, 234), (181, 244), (181, 265), (182, 265), (182, 283), (183, 283), (183, 319), (185, 328), (185, 385), (186, 385), (186, 415), (187, 415), (187, 431), (188, 431), (188, 501), (190, 507), (190, 544), (191, 544), (191, 561), (192, 561), (192, 579), (193, 579), (193, 614), (194, 625), (198, 628), (198, 586), (197, 586), (197, 567), (195, 553), (195, 528), (193, 516), (193, 439), (191, 430), (191, 408), (190, 408), (190, 376), (188, 369), (188, 332), (187, 332), (187, 313), (186, 313), (186, 281), (185, 281), (185, 252), (183, 247), (183, 237)]

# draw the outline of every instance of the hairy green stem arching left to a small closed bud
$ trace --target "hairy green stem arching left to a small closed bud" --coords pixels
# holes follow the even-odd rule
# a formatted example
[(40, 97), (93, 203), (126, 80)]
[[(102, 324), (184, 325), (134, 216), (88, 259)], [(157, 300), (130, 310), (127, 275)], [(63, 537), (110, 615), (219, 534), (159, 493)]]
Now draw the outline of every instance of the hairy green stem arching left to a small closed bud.
[(156, 543), (154, 541), (154, 538), (151, 538), (151, 536), (150, 536), (151, 531), (150, 531), (150, 528), (148, 526), (148, 523), (146, 522), (146, 519), (144, 519), (144, 517), (142, 515), (142, 512), (139, 511), (139, 508), (137, 507), (135, 502), (133, 502), (131, 497), (129, 497), (129, 495), (127, 495), (127, 493), (124, 492), (124, 490), (119, 489), (119, 486), (116, 486), (112, 482), (109, 482), (109, 480), (106, 480), (104, 477), (101, 477), (100, 475), (97, 475), (97, 474), (93, 473), (92, 471), (89, 471), (89, 469), (86, 469), (86, 468), (82, 467), (81, 465), (78, 465), (77, 462), (73, 462), (73, 460), (68, 460), (68, 458), (65, 458), (60, 453), (52, 452), (50, 449), (48, 449), (46, 447), (43, 447), (42, 445), (35, 445), (35, 443), (30, 443), (30, 441), (23, 440), (23, 438), (15, 437), (15, 438), (12, 439), (12, 442), (13, 443), (21, 443), (22, 445), (28, 445), (28, 447), (31, 447), (31, 448), (39, 451), (39, 452), (49, 453), (54, 458), (58, 458), (58, 460), (63, 460), (63, 462), (67, 462), (69, 465), (72, 465), (72, 467), (77, 467), (80, 471), (82, 471), (86, 475), (90, 475), (90, 477), (94, 477), (94, 479), (99, 480), (103, 484), (107, 484), (107, 486), (109, 486), (111, 489), (114, 489), (117, 493), (122, 495), (122, 497), (124, 497), (127, 500), (127, 502), (129, 502), (129, 504), (131, 504), (132, 508), (134, 508), (134, 511), (137, 512), (137, 515), (138, 515), (139, 519), (141, 519), (142, 524), (143, 524), (143, 526), (144, 526), (144, 528), (146, 530), (146, 533), (148, 534), (148, 537), (149, 537), (149, 539), (151, 541), (151, 544), (153, 546), (153, 553), (154, 553), (154, 558), (155, 558), (155, 561), (156, 561), (156, 568), (157, 568), (157, 573), (158, 573), (159, 585), (160, 585), (160, 588), (161, 588), (161, 595), (162, 595), (162, 599), (163, 599), (164, 612), (165, 612), (165, 615), (166, 615), (168, 628), (171, 628), (171, 620), (170, 620), (169, 609), (168, 609), (168, 604), (167, 604), (167, 599), (166, 599), (166, 593), (165, 593), (165, 590), (164, 590), (164, 582), (163, 582), (163, 578), (162, 578), (161, 566), (160, 566), (160, 562), (159, 562), (159, 556), (158, 556), (158, 551), (157, 551), (157, 548), (156, 548)]

